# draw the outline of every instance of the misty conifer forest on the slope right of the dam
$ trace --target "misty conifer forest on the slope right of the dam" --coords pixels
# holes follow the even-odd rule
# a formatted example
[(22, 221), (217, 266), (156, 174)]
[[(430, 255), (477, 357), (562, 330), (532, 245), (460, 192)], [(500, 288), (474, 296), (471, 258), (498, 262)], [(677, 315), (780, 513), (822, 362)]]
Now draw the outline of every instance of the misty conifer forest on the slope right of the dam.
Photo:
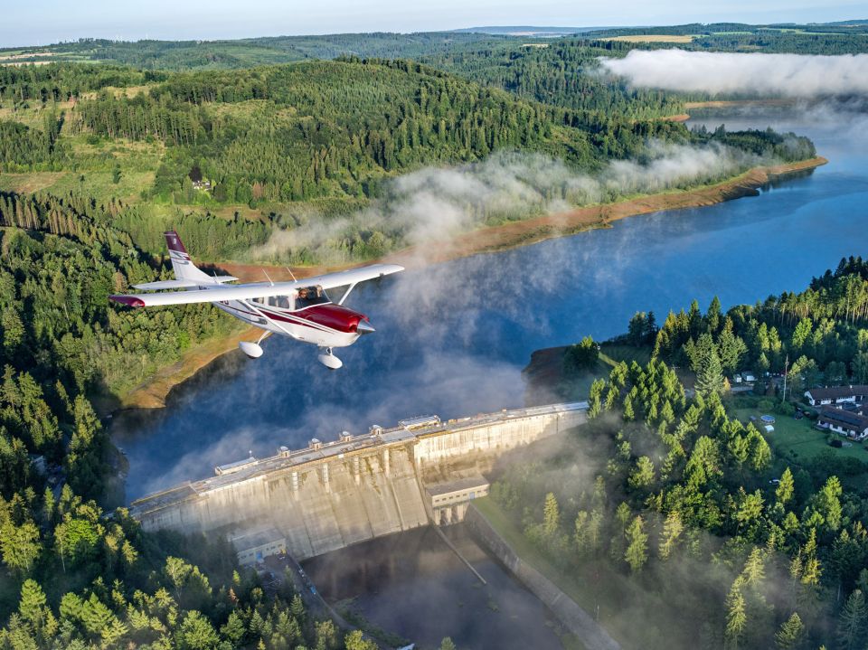
[[(745, 413), (760, 404), (792, 419), (792, 405), (772, 406), (779, 391), (765, 407), (731, 395), (726, 377), (763, 359), (783, 372), (788, 355), (792, 400), (864, 381), (866, 291), (868, 268), (851, 258), (756, 306), (694, 302), (659, 328), (637, 314), (610, 344), (653, 345), (650, 361), (593, 382), (590, 425), (507, 466), (497, 509), (631, 647), (863, 648), (868, 461), (780, 452), (788, 429), (761, 434)], [(587, 338), (564, 363), (588, 368), (598, 354)]]

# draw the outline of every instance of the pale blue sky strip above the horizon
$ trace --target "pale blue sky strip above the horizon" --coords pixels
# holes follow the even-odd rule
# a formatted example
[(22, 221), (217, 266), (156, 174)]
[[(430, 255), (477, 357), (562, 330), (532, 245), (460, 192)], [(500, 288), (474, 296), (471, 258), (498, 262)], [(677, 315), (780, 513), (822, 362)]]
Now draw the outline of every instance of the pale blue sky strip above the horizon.
[(0, 0), (0, 47), (83, 37), (213, 40), (479, 25), (825, 23), (853, 18), (868, 18), (868, 0)]

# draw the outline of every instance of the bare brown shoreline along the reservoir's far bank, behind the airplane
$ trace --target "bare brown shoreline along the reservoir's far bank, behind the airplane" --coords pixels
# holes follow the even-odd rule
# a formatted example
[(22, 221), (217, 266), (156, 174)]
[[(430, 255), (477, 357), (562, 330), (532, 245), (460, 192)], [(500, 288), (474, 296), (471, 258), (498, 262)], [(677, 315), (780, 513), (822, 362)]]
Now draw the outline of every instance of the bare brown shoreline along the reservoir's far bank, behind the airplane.
[[(570, 236), (582, 231), (611, 228), (611, 224), (614, 221), (627, 219), (627, 217), (652, 212), (705, 207), (739, 199), (744, 196), (754, 196), (759, 193), (761, 187), (769, 183), (790, 175), (813, 171), (816, 167), (826, 165), (826, 163), (828, 163), (828, 160), (818, 155), (797, 163), (754, 167), (729, 180), (693, 190), (675, 190), (667, 193), (646, 194), (624, 199), (616, 203), (584, 206), (566, 212), (547, 214), (523, 221), (513, 221), (498, 226), (477, 229), (476, 231), (461, 234), (448, 247), (410, 247), (391, 253), (382, 259), (344, 264), (339, 267), (317, 266), (294, 268), (293, 272), (296, 278), (306, 278), (328, 271), (362, 266), (374, 261), (399, 263), (407, 268), (422, 268), (429, 264), (466, 258), (480, 253), (510, 250), (520, 246), (535, 244), (543, 240)], [(434, 251), (433, 254), (432, 251)], [(216, 263), (216, 266), (224, 268), (231, 275), (243, 281), (258, 281), (263, 279), (263, 268), (267, 269), (269, 276), (275, 280), (291, 279), (290, 272), (284, 267), (233, 262)], [(122, 396), (118, 400), (119, 404), (115, 411), (165, 407), (165, 401), (175, 386), (183, 383), (223, 354), (236, 350), (239, 341), (258, 336), (259, 329), (256, 327), (245, 327), (228, 338), (215, 339), (197, 346), (193, 350), (184, 353), (180, 361), (156, 372), (153, 378)]]

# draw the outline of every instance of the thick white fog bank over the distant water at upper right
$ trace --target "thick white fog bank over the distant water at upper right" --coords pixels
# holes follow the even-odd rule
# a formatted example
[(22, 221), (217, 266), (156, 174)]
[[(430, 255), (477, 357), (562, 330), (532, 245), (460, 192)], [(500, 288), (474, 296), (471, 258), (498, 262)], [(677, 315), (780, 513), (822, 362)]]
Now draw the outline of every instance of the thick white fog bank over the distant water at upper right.
[(633, 50), (623, 59), (601, 63), (606, 71), (645, 88), (804, 99), (868, 94), (868, 54)]

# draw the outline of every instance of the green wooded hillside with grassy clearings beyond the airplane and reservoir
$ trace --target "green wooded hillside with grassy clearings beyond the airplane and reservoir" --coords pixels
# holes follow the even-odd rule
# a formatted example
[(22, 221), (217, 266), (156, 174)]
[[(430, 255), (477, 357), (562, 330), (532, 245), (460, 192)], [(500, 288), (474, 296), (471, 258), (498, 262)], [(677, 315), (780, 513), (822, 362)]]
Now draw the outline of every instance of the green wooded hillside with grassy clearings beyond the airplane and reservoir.
[[(582, 52), (579, 59), (590, 56)], [(528, 70), (544, 65), (534, 60)], [(529, 83), (543, 79), (521, 74)], [(673, 106), (663, 94), (605, 80), (579, 83), (589, 84), (596, 104), (571, 102), (569, 96), (586, 94), (573, 86), (561, 94), (568, 106), (553, 106), (534, 99), (540, 93), (531, 86), (524, 99), (410, 61), (347, 58), (175, 73), (72, 64), (3, 68), (0, 190), (90, 197), (154, 253), (169, 225), (190, 235), (208, 232), (198, 250), (227, 259), (246, 250), (241, 242), (267, 239), (276, 228), (328, 222), (372, 205), (388, 215), (393, 179), (421, 169), (465, 165), (461, 174), (484, 184), (498, 165), (519, 174), (524, 189), (509, 190), (502, 201), (476, 205), (467, 197), (458, 205), (472, 212), (473, 224), (495, 225), (537, 216), (556, 200), (606, 203), (815, 155), (804, 138), (694, 133), (647, 117)], [(571, 178), (605, 174), (615, 160), (644, 160), (647, 170), (667, 155), (666, 146), (725, 153), (725, 160), (708, 173), (688, 165), (693, 172), (664, 184), (589, 179), (599, 189), (588, 192), (582, 189), (588, 182)], [(534, 171), (547, 165), (562, 171), (554, 177)], [(522, 198), (527, 192), (537, 198)], [(220, 240), (216, 232), (227, 221), (245, 234)], [(382, 256), (406, 245), (407, 226), (388, 219), (345, 223), (329, 240), (327, 258)], [(316, 263), (320, 252), (295, 250), (284, 261)]]

